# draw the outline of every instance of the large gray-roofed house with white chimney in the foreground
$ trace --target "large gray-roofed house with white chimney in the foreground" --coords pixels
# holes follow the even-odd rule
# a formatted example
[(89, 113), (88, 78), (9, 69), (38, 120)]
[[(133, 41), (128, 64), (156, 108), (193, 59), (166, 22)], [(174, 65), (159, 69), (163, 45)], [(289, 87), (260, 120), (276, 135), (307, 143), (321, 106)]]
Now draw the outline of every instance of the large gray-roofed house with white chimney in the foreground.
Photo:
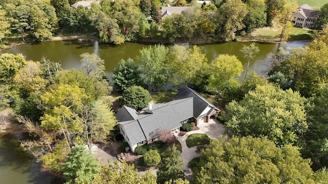
[(160, 135), (179, 132), (183, 123), (196, 122), (196, 126), (208, 122), (220, 110), (193, 89), (184, 86), (169, 102), (149, 104), (137, 112), (123, 106), (117, 113), (121, 135), (134, 152), (139, 145), (156, 141)]

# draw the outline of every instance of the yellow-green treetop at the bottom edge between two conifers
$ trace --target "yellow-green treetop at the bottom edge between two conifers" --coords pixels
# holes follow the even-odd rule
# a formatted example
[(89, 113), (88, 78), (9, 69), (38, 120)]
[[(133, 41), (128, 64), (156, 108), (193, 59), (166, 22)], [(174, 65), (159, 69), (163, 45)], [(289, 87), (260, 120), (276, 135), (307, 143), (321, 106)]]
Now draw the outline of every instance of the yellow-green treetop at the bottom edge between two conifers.
[(156, 184), (156, 175), (147, 171), (144, 176), (140, 176), (134, 165), (129, 165), (124, 160), (119, 163), (118, 160), (114, 165), (106, 164), (101, 167), (99, 175), (95, 176), (93, 183), (117, 184), (117, 183), (139, 183), (139, 184)]

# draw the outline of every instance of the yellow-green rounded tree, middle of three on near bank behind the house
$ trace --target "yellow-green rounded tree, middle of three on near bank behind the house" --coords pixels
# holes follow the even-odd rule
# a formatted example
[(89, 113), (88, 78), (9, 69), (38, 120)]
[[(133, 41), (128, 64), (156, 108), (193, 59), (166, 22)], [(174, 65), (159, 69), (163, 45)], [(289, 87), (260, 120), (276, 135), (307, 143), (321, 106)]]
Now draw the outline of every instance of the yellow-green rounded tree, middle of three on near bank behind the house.
[(196, 45), (188, 50), (181, 45), (174, 45), (167, 63), (175, 85), (192, 84), (203, 65), (207, 65), (206, 55)]

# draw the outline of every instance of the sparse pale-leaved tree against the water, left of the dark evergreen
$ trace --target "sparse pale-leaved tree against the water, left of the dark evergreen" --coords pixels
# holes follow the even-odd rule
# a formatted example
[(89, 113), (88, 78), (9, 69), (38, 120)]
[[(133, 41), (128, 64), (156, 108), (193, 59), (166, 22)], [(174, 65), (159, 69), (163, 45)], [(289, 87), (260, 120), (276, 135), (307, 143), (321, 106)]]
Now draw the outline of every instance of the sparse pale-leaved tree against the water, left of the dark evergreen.
[(102, 79), (105, 76), (105, 60), (95, 54), (83, 53), (80, 55), (82, 67), (88, 77)]

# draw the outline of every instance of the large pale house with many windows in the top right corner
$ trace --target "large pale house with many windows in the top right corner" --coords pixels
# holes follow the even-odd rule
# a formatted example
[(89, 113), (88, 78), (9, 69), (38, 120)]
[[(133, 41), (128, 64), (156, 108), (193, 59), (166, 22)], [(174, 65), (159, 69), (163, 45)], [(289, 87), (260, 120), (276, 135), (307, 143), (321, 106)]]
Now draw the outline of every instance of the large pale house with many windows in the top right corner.
[(294, 25), (301, 28), (312, 28), (316, 19), (316, 11), (308, 4), (304, 4), (297, 8), (298, 12), (294, 13)]

